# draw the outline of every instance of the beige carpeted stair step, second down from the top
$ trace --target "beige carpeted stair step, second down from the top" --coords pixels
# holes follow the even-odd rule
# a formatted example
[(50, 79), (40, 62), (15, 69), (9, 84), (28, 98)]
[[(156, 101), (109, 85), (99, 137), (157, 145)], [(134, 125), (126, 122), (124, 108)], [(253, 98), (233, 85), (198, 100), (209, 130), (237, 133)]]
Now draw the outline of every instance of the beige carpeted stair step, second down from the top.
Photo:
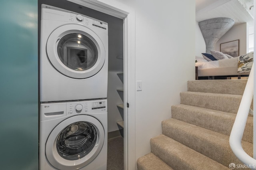
[(203, 93), (203, 92), (181, 92), (180, 104), (206, 109), (214, 109), (228, 113), (237, 113), (242, 95), (230, 95), (219, 93)]

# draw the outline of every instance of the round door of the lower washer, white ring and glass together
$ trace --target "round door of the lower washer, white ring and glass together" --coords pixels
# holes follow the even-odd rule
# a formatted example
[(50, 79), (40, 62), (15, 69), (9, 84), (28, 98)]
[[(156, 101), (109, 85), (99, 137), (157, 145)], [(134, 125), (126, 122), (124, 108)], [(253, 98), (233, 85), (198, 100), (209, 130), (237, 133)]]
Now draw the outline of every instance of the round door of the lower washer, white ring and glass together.
[(46, 158), (60, 170), (82, 168), (100, 153), (104, 138), (104, 128), (96, 118), (88, 115), (70, 117), (59, 123), (48, 136)]

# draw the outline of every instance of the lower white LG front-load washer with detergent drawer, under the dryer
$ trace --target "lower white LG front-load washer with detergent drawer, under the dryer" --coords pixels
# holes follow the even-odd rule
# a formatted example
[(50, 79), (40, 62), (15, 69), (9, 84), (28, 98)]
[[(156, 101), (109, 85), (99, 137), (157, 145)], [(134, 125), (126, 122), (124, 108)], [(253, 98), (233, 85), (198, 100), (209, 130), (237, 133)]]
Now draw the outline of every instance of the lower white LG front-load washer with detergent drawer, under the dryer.
[(40, 170), (106, 170), (107, 100), (40, 105)]

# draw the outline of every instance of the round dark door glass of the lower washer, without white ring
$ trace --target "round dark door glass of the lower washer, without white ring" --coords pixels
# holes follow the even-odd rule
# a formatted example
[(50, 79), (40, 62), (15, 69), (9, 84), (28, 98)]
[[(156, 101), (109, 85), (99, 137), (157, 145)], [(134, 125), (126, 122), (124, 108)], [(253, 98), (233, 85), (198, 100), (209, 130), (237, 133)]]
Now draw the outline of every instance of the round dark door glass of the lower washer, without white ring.
[(97, 130), (91, 123), (76, 122), (60, 132), (56, 145), (60, 156), (66, 160), (78, 160), (94, 148)]

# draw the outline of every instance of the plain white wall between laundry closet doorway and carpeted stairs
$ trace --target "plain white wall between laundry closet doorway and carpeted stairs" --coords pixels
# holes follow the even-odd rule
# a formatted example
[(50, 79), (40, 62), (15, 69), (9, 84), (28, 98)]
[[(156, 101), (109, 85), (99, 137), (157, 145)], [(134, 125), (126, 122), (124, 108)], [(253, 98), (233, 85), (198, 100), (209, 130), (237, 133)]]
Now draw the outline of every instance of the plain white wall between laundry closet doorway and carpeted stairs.
[[(186, 4), (186, 5), (184, 5)], [(135, 0), (136, 159), (150, 152), (150, 138), (162, 134), (161, 121), (194, 79), (195, 2)]]

